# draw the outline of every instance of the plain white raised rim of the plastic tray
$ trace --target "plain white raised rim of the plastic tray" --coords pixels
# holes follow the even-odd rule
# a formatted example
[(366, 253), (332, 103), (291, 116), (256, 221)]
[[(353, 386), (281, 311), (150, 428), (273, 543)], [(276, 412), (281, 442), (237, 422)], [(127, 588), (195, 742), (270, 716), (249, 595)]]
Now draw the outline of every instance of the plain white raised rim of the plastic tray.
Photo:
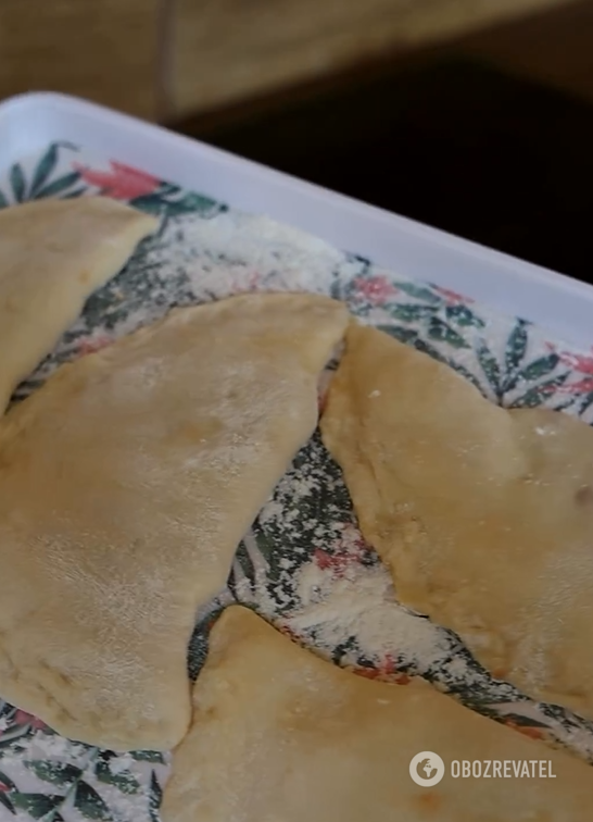
[(39, 92), (0, 103), (0, 171), (51, 140), (70, 140), (268, 214), (403, 276), (540, 323), (567, 341), (593, 344), (593, 288), (586, 284), (84, 100)]

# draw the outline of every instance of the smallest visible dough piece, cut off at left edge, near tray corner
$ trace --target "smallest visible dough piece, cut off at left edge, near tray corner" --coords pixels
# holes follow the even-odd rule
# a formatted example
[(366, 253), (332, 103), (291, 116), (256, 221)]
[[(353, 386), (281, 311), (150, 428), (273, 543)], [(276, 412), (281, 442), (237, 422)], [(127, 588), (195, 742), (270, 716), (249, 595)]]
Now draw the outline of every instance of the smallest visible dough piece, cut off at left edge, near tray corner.
[(0, 413), (157, 221), (105, 197), (0, 211)]

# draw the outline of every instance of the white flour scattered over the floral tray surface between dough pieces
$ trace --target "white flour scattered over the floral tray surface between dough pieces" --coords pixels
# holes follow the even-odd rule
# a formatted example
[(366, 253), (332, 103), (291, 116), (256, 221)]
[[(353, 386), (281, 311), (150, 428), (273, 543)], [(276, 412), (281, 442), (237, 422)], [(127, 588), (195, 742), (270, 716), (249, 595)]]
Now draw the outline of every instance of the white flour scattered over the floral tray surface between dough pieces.
[[(267, 217), (222, 212), (211, 219), (186, 215), (168, 220), (160, 236), (143, 244), (126, 270), (91, 297), (85, 314), (64, 335), (54, 354), (22, 386), (18, 396), (30, 393), (62, 362), (159, 320), (174, 306), (249, 290), (330, 294), (338, 285), (339, 296), (356, 308), (356, 295), (346, 294), (349, 284), (368, 270), (366, 261)], [(399, 284), (392, 273), (374, 267), (373, 276), (401, 285), (406, 301), (406, 284)], [(392, 290), (398, 291), (398, 287), (392, 286)], [(365, 322), (392, 322), (382, 307), (365, 310)], [(488, 339), (490, 350), (502, 362), (516, 321), (483, 309), (480, 314), (485, 319), (484, 326), (465, 327), (464, 338)], [(545, 340), (544, 332), (530, 327), (530, 352), (543, 351)], [(471, 346), (459, 349), (455, 360), (481, 379), (481, 365)], [(147, 372), (142, 378), (149, 379), (151, 374)], [(321, 393), (325, 384), (323, 381)], [(491, 399), (496, 399), (485, 381), (481, 379), (481, 385)], [(515, 395), (523, 390), (519, 381)], [(513, 403), (515, 395), (510, 393), (505, 401)], [(588, 413), (593, 416), (593, 407)], [(538, 429), (542, 436), (550, 433)], [(202, 609), (199, 621), (207, 622), (218, 608), (237, 598), (340, 664), (375, 665), (386, 676), (421, 674), (480, 710), (501, 717), (520, 714), (539, 722), (552, 738), (593, 759), (592, 723), (568, 712), (554, 713), (545, 706), (526, 701), (507, 684), (493, 682), (472, 662), (455, 635), (398, 605), (390, 576), (364, 545), (341, 475), (328, 461), (318, 438), (296, 458), (247, 535), (230, 583), (215, 602)], [(4, 739), (12, 733), (3, 715), (0, 733)], [(109, 804), (114, 822), (151, 819), (151, 780), (154, 773), (164, 784), (168, 760), (164, 764), (139, 762), (127, 753), (111, 759), (109, 769), (114, 776), (129, 772), (141, 786), (137, 794), (126, 795), (97, 780), (99, 752), (93, 748), (41, 732), (22, 738), (21, 745), (18, 742), (3, 748), (0, 771), (21, 790), (55, 789), (36, 777), (25, 761), (73, 763), (85, 769), (85, 781)], [(61, 815), (65, 822), (81, 822), (84, 818), (73, 801), (71, 796), (60, 809)], [(0, 807), (0, 819), (1, 813)], [(10, 819), (31, 822), (30, 814), (22, 811)]]

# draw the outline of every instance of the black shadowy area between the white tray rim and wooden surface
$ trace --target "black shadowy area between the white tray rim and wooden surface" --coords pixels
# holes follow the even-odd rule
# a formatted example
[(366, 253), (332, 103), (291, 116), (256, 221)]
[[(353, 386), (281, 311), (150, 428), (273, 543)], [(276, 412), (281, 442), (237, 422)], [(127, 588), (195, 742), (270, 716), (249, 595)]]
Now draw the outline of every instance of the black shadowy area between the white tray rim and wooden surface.
[[(556, 74), (563, 60), (570, 62), (576, 40), (581, 63), (583, 50), (589, 54), (593, 88), (593, 13), (584, 25), (566, 24), (560, 35), (552, 22), (546, 33), (528, 28), (522, 37), (516, 50), (539, 49), (539, 59), (556, 61)], [(589, 100), (558, 84), (527, 79), (505, 67), (504, 59), (493, 65), (467, 51), (449, 49), (409, 65), (386, 62), (174, 125), (593, 282), (593, 95)]]

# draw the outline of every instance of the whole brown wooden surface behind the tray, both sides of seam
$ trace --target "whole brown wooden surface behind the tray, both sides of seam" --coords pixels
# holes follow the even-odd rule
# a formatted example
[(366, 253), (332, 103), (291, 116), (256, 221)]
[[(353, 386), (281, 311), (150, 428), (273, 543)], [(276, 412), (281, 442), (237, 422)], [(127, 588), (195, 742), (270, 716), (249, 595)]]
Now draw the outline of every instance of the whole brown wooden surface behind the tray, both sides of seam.
[[(0, 99), (59, 90), (173, 121), (464, 33), (478, 33), (477, 53), (499, 64), (593, 97), (593, 0), (576, 24), (564, 14), (570, 8), (570, 0), (0, 0)], [(542, 15), (550, 9), (559, 28)], [(480, 39), (521, 16), (527, 22), (499, 40), (488, 32)]]

